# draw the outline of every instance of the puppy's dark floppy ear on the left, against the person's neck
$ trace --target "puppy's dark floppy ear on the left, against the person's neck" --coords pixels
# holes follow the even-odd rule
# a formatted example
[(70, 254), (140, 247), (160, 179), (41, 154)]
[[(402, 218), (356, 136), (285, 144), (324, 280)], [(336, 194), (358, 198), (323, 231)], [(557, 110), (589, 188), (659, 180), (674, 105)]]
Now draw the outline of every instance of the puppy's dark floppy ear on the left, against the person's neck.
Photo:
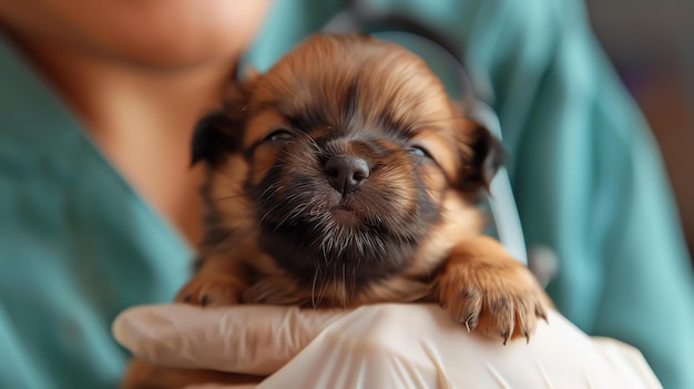
[(246, 126), (246, 106), (256, 78), (257, 74), (254, 74), (243, 83), (233, 85), (223, 108), (197, 122), (191, 150), (192, 165), (204, 161), (215, 167), (224, 162), (226, 154), (238, 151)]

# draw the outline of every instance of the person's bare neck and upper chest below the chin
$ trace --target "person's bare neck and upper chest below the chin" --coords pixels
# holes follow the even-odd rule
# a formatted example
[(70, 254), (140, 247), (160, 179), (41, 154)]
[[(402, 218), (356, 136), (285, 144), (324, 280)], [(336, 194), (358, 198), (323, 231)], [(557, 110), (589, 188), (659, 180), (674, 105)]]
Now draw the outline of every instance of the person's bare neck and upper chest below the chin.
[(195, 122), (220, 105), (232, 63), (157, 72), (57, 50), (30, 55), (125, 180), (198, 243), (204, 174), (188, 167), (190, 142)]

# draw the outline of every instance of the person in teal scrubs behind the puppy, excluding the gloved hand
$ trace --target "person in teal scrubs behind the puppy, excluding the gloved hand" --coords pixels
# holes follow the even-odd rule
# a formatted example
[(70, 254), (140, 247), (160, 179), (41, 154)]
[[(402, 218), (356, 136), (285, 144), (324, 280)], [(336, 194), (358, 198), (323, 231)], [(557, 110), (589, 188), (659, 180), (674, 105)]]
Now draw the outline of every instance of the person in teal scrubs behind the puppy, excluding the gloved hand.
[[(190, 277), (194, 123), (264, 18), (247, 57), (261, 69), (340, 7), (317, 3), (0, 3), (0, 387), (116, 385), (111, 320)], [(560, 258), (560, 311), (637, 347), (665, 387), (694, 387), (692, 272), (661, 162), (581, 4), (553, 7), (406, 11), (459, 34), (493, 91), (527, 239)]]

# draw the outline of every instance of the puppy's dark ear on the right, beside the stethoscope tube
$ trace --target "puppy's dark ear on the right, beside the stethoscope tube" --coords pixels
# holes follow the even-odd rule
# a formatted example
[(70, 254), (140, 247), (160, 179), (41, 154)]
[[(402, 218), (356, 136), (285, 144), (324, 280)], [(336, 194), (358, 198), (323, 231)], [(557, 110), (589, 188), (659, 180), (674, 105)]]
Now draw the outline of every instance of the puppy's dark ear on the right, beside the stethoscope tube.
[(461, 126), (465, 136), (461, 142), (462, 172), (459, 188), (463, 192), (489, 192), (491, 181), (507, 160), (501, 141), (490, 131), (489, 120), (480, 112), (463, 108)]

